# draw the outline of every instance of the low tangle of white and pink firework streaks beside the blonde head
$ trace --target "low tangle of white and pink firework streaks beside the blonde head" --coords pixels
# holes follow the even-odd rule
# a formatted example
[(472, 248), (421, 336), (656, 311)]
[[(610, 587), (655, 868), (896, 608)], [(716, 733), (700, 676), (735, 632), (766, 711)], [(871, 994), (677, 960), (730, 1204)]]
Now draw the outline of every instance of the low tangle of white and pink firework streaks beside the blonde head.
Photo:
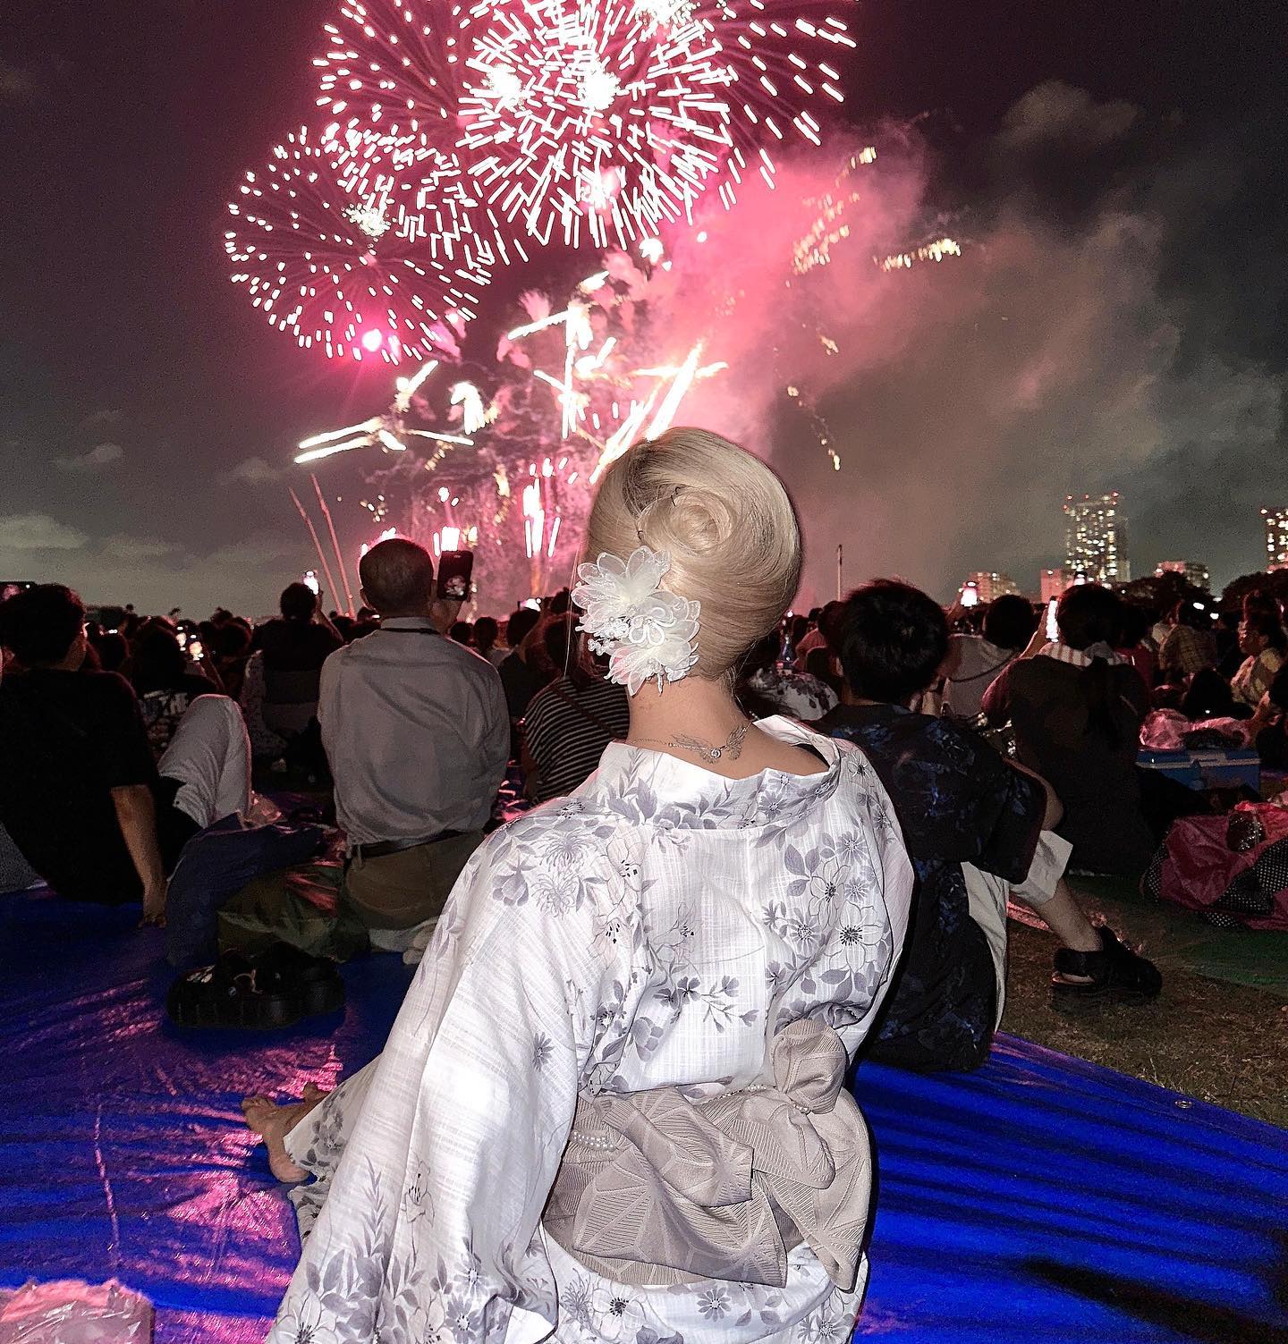
[[(526, 320), (500, 337), (483, 378), (429, 362), (398, 379), (386, 411), (311, 435), (296, 461), (380, 452), (382, 489), (364, 504), (372, 521), (397, 507), (405, 535), (440, 546), (441, 530), (457, 528), (497, 591), (522, 546), (531, 591), (545, 591), (570, 570), (604, 466), (674, 423), (694, 386), (726, 368), (705, 362), (700, 341), (674, 363), (649, 360), (661, 336), (647, 320), (648, 288), (647, 261), (612, 253), (559, 309), (530, 292)], [(417, 441), (432, 450), (407, 453)]]

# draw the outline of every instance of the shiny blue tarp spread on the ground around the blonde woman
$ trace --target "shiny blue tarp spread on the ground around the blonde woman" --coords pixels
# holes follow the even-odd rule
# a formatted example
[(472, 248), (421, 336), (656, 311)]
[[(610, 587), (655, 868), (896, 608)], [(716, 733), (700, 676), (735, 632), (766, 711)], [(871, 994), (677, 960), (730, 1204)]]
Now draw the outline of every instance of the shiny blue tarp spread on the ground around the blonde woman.
[[(134, 918), (0, 899), (0, 1286), (116, 1275), (160, 1344), (249, 1344), (297, 1242), (238, 1102), (366, 1063), (410, 972), (347, 966), (343, 1015), (292, 1031), (187, 1035)], [(858, 1094), (879, 1164), (860, 1333), (1288, 1344), (1288, 1134), (1010, 1039), (971, 1077), (864, 1066)]]

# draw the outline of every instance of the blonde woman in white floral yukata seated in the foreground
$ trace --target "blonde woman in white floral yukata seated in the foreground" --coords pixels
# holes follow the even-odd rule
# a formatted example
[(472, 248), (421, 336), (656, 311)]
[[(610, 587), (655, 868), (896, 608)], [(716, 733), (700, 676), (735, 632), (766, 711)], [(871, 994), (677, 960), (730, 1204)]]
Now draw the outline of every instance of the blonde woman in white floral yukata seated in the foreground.
[(586, 554), (579, 628), (629, 737), (473, 856), (379, 1059), (247, 1102), (274, 1171), (315, 1177), (274, 1344), (854, 1327), (871, 1169), (843, 1075), (913, 876), (856, 749), (733, 698), (799, 583), (792, 504), (676, 429), (606, 473)]

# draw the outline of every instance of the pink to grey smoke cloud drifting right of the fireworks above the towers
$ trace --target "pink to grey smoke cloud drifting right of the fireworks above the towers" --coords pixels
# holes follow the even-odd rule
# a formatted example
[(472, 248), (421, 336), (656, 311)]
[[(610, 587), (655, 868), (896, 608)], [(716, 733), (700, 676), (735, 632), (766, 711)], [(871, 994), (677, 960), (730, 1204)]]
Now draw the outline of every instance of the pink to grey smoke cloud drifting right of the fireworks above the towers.
[[(835, 591), (838, 543), (847, 585), (901, 574), (947, 598), (968, 571), (1002, 570), (1037, 591), (1038, 569), (1059, 563), (1063, 496), (1104, 489), (1124, 495), (1137, 575), (1164, 558), (1206, 562), (1218, 582), (1258, 564), (1256, 509), (1277, 503), (1261, 493), (1288, 495), (1273, 452), (1284, 380), (1207, 341), (1174, 281), (1179, 220), (1211, 180), (1155, 163), (1072, 204), (1042, 190), (1053, 160), (1066, 180), (1094, 180), (1140, 121), (1066, 85), (1030, 91), (987, 146), (995, 185), (987, 211), (959, 220), (965, 237), (928, 227), (916, 134), (878, 132), (878, 160), (846, 184), (859, 195), (848, 237), (787, 285), (784, 258), (859, 142), (782, 164), (776, 191), (750, 187), (739, 210), (703, 222), (705, 241), (676, 245), (660, 327), (678, 349), (710, 331), (705, 358), (731, 366), (680, 419), (784, 474), (807, 601)], [(874, 263), (937, 233), (964, 255)], [(826, 421), (839, 472), (788, 387)]]

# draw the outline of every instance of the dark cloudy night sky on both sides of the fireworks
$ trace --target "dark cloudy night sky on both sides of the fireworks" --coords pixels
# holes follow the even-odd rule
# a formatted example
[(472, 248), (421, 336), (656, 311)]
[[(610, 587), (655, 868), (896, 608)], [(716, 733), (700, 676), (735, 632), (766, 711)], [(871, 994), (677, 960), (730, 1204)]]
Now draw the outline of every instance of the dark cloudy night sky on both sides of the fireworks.
[[(292, 448), (378, 409), (389, 370), (355, 374), (272, 331), (229, 284), (222, 233), (245, 169), (313, 116), (309, 58), (332, 8), (5, 5), (0, 579), (56, 579), (145, 610), (200, 617), (222, 602), (262, 614), (309, 564), (286, 493)], [(855, 445), (844, 472), (789, 476), (807, 515), (812, 489), (852, 492), (854, 535), (834, 528), (815, 543), (835, 534), (866, 570), (941, 597), (973, 569), (1035, 587), (1037, 567), (1058, 562), (1065, 491), (1117, 488), (1136, 573), (1163, 558), (1205, 560), (1217, 582), (1257, 567), (1256, 511), (1288, 503), (1288, 7), (871, 0), (851, 17), (844, 117), (878, 134), (926, 113), (924, 210), (977, 247), (938, 297), (925, 282), (909, 290), (924, 337), (952, 321), (992, 341), (985, 323), (961, 325), (969, 267), (976, 282), (988, 267), (991, 293), (973, 298), (995, 304), (1008, 274), (1022, 288), (1022, 270), (1004, 269), (1016, 239), (1041, 237), (1057, 265), (1081, 265), (1113, 226), (1133, 249), (1111, 265), (1097, 253), (1101, 269), (1074, 290), (1094, 308), (1090, 335), (1066, 348), (1094, 360), (1105, 347), (1109, 359), (1100, 333), (1129, 348), (1140, 324), (1151, 360), (1129, 384), (1113, 368), (1089, 375), (1081, 403), (1043, 405), (1039, 380), (1027, 426), (1012, 417), (994, 437), (980, 414), (967, 446), (944, 434), (942, 462), (933, 423), (918, 419), (924, 398), (899, 399), (898, 363), (869, 368), (864, 395), (830, 409), (838, 439)], [(1007, 304), (1012, 323), (1038, 321), (1019, 290)], [(1062, 320), (1043, 313), (1041, 340)], [(1068, 320), (1082, 319), (1070, 308)], [(968, 352), (979, 376), (1004, 382), (1026, 336), (1039, 341), (1012, 329)], [(1112, 362), (1121, 367), (1120, 349)], [(1101, 435), (1084, 454), (1088, 418), (1104, 409), (1090, 402), (1105, 396), (1139, 398), (1148, 414), (1119, 405), (1132, 441), (1116, 456)], [(952, 402), (934, 414), (951, 422)], [(957, 484), (921, 493), (932, 476)], [(359, 478), (348, 466), (325, 477), (346, 497), (336, 516), (354, 550), (367, 536)], [(972, 496), (961, 482), (975, 478), (988, 488)], [(881, 527), (864, 528), (864, 508)]]

